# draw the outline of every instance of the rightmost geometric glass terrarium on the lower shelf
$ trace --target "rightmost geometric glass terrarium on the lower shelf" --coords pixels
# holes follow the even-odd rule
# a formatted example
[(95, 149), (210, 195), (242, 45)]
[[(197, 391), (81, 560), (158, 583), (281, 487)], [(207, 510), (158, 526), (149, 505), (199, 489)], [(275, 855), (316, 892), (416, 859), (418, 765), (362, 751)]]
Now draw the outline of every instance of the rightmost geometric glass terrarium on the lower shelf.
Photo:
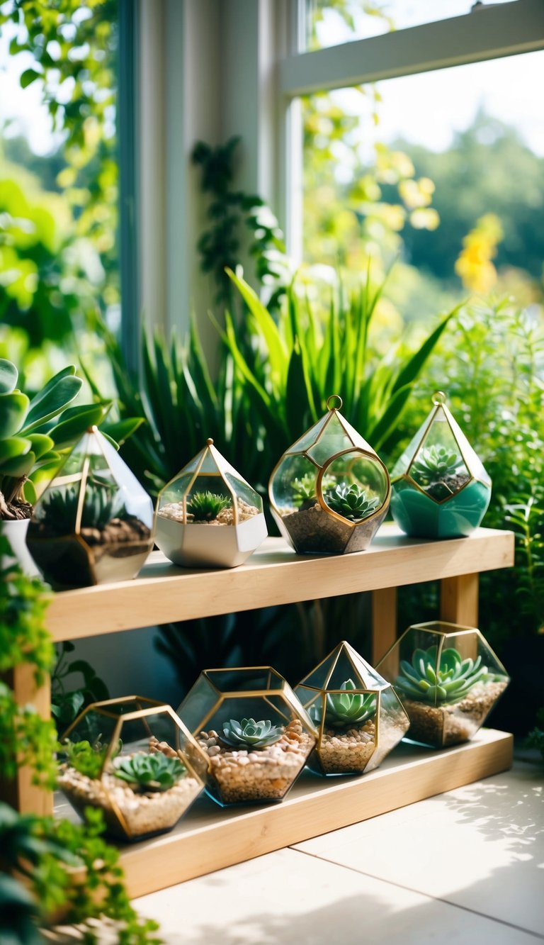
[(476, 627), (415, 624), (378, 663), (410, 716), (408, 737), (441, 748), (466, 742), (510, 681)]

